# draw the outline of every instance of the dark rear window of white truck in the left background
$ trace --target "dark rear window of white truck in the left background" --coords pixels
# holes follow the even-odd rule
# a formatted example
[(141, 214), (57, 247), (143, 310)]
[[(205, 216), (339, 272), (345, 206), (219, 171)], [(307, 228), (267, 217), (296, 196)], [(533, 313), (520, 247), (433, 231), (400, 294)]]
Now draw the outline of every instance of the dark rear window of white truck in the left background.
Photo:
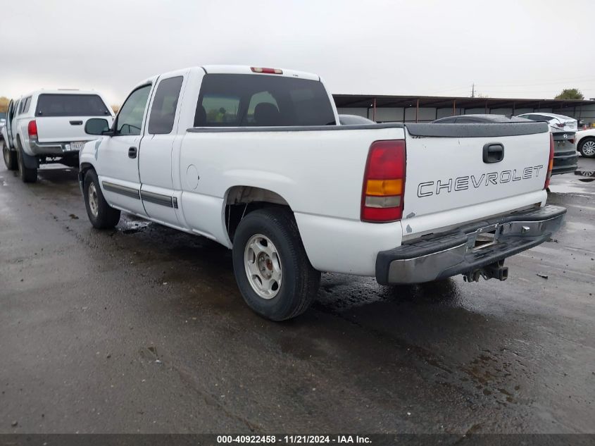
[(39, 94), (35, 116), (111, 116), (98, 94)]

